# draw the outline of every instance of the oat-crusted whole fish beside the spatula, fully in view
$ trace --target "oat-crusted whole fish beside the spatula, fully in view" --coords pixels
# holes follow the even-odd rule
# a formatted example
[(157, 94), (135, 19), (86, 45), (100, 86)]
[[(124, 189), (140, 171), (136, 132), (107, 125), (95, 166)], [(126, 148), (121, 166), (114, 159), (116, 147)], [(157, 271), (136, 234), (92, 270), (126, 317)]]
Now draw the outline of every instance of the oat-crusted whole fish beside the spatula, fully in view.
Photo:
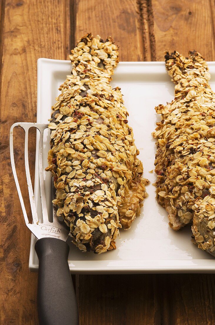
[(115, 248), (118, 227), (128, 229), (146, 196), (142, 162), (120, 88), (110, 85), (118, 63), (111, 37), (87, 34), (71, 51), (71, 75), (60, 86), (49, 128), (49, 166), (57, 215), (82, 251)]

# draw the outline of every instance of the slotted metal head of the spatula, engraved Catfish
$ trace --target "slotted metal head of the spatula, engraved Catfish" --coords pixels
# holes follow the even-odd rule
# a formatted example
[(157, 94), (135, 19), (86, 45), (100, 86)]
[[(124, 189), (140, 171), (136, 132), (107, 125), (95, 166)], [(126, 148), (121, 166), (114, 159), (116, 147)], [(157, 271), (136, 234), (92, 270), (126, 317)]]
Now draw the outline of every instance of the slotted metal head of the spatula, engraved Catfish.
[[(26, 171), (26, 179), (27, 179), (27, 187), (29, 200), (31, 205), (32, 219), (33, 223), (29, 223), (25, 204), (23, 201), (21, 189), (19, 186), (18, 177), (16, 174), (16, 167), (14, 161), (14, 147), (13, 147), (13, 130), (16, 126), (22, 127), (25, 130), (25, 171)], [(39, 132), (39, 146), (38, 146), (38, 156), (36, 154), (36, 159), (38, 159), (38, 168), (39, 168), (39, 184), (40, 184), (40, 193), (41, 193), (41, 203), (42, 203), (42, 216), (43, 221), (38, 220), (37, 208), (34, 199), (34, 192), (32, 188), (29, 163), (28, 163), (28, 131), (31, 127), (36, 127)], [(19, 200), (21, 203), (22, 211), (25, 218), (26, 226), (31, 230), (31, 232), (38, 238), (43, 237), (54, 237), (59, 238), (61, 240), (66, 241), (69, 235), (69, 228), (63, 221), (59, 221), (58, 217), (53, 213), (53, 222), (48, 220), (48, 211), (46, 205), (46, 193), (45, 193), (45, 185), (44, 185), (44, 177), (43, 177), (43, 161), (42, 161), (42, 153), (43, 153), (43, 133), (44, 130), (48, 128), (48, 124), (39, 124), (39, 123), (14, 123), (10, 129), (10, 158), (12, 171), (16, 183), (16, 188), (19, 196)], [(37, 151), (36, 151), (37, 153)]]

